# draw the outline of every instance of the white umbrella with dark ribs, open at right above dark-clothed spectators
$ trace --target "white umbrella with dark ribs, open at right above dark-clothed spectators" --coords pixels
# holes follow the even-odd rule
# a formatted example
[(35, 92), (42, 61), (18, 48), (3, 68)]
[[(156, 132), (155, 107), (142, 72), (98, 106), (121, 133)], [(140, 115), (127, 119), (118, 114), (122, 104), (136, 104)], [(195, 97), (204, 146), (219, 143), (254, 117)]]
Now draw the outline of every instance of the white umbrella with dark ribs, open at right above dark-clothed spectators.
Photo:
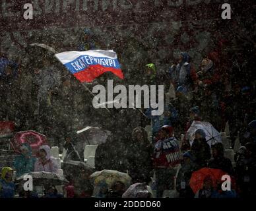
[(193, 121), (191, 127), (187, 130), (186, 138), (193, 143), (193, 136), (197, 129), (203, 129), (206, 134), (207, 143), (210, 145), (222, 142), (220, 133), (212, 126), (212, 124), (204, 121)]

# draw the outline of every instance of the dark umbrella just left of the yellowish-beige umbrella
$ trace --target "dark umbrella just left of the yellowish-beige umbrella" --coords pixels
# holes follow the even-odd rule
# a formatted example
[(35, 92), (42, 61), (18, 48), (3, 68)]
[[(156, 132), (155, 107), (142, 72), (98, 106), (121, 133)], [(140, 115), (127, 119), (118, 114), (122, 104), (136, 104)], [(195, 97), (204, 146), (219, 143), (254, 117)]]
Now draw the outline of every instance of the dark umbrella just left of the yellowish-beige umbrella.
[(94, 172), (94, 169), (88, 164), (80, 161), (69, 160), (68, 162), (63, 163), (63, 172), (66, 176), (79, 177), (80, 172), (82, 171), (91, 175)]

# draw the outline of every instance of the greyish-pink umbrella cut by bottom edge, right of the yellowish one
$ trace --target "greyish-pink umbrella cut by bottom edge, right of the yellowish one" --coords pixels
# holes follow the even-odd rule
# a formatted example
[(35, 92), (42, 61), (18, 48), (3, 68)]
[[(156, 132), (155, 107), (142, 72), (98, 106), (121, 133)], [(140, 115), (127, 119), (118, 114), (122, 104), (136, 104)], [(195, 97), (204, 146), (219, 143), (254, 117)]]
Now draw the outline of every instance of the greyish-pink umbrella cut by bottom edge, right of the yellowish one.
[(150, 193), (146, 186), (146, 183), (135, 183), (123, 193), (122, 198), (148, 198)]

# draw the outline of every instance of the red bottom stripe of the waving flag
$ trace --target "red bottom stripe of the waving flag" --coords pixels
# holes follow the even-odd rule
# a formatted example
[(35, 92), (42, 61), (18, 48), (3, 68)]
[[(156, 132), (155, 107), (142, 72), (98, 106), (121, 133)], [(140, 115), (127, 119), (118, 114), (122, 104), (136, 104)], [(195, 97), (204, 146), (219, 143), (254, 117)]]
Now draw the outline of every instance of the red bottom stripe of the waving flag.
[(102, 67), (102, 65), (90, 65), (90, 67), (75, 73), (74, 76), (80, 80), (80, 82), (92, 82), (95, 78), (106, 72), (112, 72), (114, 75), (123, 79), (123, 72), (121, 69), (115, 69), (113, 67)]

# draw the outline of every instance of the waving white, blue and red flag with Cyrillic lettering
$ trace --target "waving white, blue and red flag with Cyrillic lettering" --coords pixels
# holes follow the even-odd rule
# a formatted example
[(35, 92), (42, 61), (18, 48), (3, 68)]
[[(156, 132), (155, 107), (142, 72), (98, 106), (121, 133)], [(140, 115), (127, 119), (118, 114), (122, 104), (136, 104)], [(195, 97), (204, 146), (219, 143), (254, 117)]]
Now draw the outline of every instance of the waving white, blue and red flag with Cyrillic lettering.
[(112, 50), (66, 51), (55, 56), (80, 82), (92, 82), (106, 72), (123, 79), (117, 55)]

